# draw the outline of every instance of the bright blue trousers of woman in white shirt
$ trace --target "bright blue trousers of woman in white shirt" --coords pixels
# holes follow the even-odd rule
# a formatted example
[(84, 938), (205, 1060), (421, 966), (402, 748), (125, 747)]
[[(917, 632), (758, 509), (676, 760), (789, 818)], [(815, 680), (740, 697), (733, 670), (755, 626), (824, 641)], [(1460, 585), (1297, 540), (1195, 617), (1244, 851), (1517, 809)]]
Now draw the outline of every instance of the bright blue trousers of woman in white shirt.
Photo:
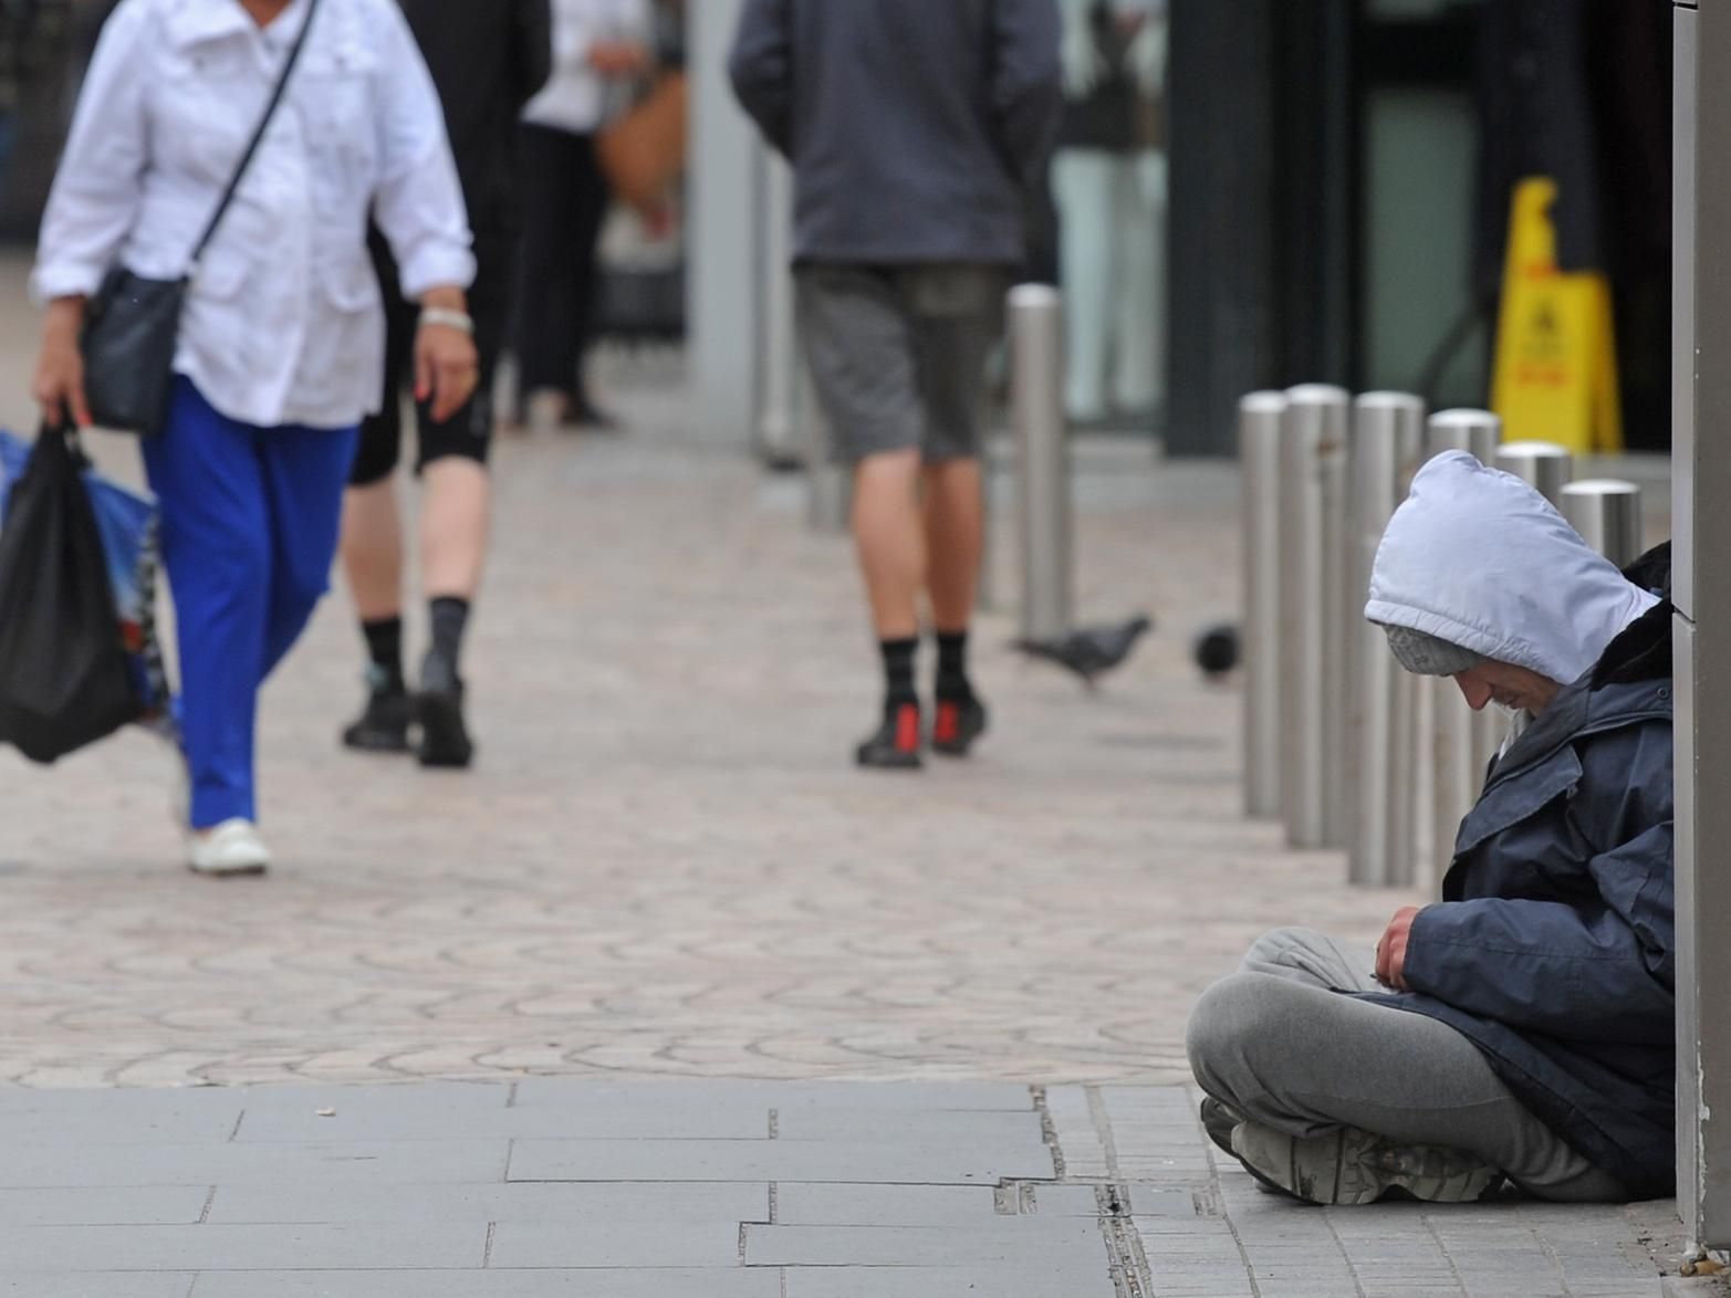
[(241, 424), (185, 377), (175, 379), (168, 426), (144, 440), (175, 592), (196, 829), (258, 819), (258, 689), (329, 585), (353, 459), (353, 427)]

